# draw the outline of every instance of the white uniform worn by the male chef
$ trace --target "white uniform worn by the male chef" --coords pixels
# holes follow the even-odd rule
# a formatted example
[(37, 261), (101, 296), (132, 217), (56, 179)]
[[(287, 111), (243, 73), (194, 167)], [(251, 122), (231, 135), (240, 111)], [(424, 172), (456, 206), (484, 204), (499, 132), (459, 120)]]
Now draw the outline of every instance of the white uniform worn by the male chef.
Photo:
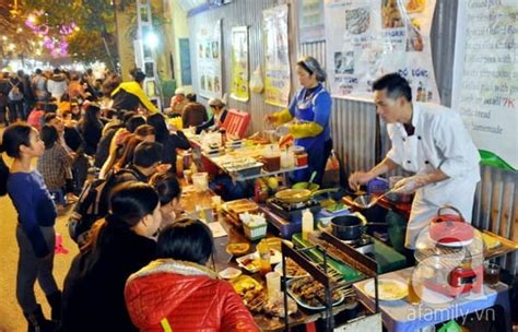
[(392, 141), (387, 157), (408, 171), (439, 168), (449, 177), (415, 192), (404, 242), (407, 248), (415, 249), (420, 232), (427, 229), (444, 205), (457, 208), (471, 223), (480, 155), (458, 111), (427, 103), (413, 103), (412, 108), (413, 135), (407, 134), (402, 123), (387, 124)]

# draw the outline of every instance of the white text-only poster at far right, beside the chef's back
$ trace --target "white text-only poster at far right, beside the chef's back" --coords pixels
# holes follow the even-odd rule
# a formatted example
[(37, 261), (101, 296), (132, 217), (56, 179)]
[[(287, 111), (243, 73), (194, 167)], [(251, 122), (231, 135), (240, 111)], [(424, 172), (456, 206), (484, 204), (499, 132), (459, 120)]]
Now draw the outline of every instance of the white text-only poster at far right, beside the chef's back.
[(452, 107), (482, 163), (518, 169), (518, 2), (459, 1)]

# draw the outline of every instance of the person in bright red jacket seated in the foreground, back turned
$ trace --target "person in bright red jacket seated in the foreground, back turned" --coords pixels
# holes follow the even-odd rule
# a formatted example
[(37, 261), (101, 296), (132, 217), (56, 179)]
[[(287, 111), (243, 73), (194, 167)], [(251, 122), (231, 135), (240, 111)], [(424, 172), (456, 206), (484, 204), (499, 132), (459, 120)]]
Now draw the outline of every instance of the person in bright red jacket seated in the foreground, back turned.
[(158, 260), (132, 274), (125, 297), (140, 331), (259, 331), (239, 295), (207, 268), (214, 244), (200, 221), (178, 221), (158, 236)]

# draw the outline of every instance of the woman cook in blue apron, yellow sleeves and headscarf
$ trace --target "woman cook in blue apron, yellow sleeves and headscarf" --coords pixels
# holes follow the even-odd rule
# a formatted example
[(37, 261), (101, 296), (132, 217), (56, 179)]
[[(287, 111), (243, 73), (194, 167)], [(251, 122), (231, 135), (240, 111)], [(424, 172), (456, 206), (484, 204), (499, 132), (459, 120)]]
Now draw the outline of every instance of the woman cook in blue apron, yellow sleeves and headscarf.
[(267, 121), (280, 126), (295, 118), (286, 131), (295, 138), (295, 145), (304, 146), (308, 154), (308, 167), (296, 171), (296, 181), (307, 181), (313, 171), (315, 182), (321, 185), (326, 162), (331, 153), (332, 140), (329, 118), (331, 95), (323, 87), (326, 72), (315, 58), (303, 57), (297, 61), (297, 78), (302, 88), (290, 107), (267, 117)]

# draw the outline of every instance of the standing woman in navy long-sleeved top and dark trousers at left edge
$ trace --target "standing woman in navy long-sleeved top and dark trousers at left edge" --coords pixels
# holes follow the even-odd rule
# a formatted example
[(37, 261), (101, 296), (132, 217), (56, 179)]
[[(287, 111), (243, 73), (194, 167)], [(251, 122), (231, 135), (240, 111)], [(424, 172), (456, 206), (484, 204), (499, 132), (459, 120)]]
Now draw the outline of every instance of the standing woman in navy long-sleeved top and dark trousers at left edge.
[(16, 298), (27, 319), (28, 331), (54, 331), (55, 323), (45, 319), (34, 294), (37, 280), (52, 308), (52, 320), (59, 320), (61, 292), (52, 275), (56, 206), (42, 175), (31, 165), (33, 158), (44, 154), (45, 145), (36, 129), (14, 123), (3, 133), (1, 151), (14, 159), (7, 191), (16, 209), (19, 222)]

